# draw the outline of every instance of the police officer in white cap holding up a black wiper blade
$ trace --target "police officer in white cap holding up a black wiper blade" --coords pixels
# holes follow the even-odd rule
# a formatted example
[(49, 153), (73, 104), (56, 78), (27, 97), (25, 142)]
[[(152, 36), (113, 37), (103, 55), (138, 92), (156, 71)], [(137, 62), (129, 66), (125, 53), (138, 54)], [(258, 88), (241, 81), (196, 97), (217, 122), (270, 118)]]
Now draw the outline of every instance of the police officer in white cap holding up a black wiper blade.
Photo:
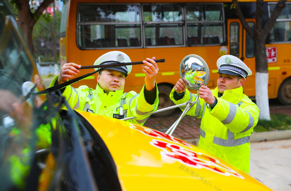
[[(129, 56), (120, 51), (107, 52), (100, 56), (94, 65), (107, 65), (114, 63), (131, 62)], [(134, 91), (123, 93), (125, 78), (131, 72), (132, 66), (103, 68), (97, 74), (96, 89), (80, 86), (74, 89), (66, 86), (62, 89), (63, 96), (68, 100), (73, 109), (110, 116), (117, 119), (135, 116), (136, 119), (128, 120), (132, 123), (143, 125), (149, 112), (157, 110), (159, 103), (155, 77), (159, 70), (155, 57), (143, 61), (142, 70), (145, 73), (145, 85), (139, 94)], [(81, 65), (65, 63), (61, 74), (50, 84), (50, 87), (63, 83), (77, 75)], [(96, 68), (95, 70), (97, 70)]]

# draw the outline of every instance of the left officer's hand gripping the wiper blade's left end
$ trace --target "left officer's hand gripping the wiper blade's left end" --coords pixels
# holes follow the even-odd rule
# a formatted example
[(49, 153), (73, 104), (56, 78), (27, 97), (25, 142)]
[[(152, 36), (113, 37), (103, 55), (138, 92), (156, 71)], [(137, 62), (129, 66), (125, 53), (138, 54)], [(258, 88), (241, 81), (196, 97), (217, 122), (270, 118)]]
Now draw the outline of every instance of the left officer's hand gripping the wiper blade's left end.
[(77, 73), (79, 73), (78, 68), (81, 68), (81, 65), (75, 63), (65, 63), (61, 68), (61, 73), (58, 76), (58, 84), (66, 82), (68, 79), (73, 78)]

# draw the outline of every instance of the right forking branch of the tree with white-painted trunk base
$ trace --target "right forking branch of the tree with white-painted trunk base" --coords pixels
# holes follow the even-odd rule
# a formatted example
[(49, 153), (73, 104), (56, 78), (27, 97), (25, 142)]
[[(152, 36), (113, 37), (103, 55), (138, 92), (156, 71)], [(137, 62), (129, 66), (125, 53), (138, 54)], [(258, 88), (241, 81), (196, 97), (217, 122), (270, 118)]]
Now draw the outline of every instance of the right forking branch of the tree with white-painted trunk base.
[(269, 32), (271, 31), (272, 27), (274, 26), (278, 16), (281, 14), (281, 11), (286, 6), (286, 0), (279, 0), (274, 8), (270, 18), (268, 19), (267, 23), (265, 24), (264, 28), (262, 29), (261, 35), (264, 39), (267, 38)]

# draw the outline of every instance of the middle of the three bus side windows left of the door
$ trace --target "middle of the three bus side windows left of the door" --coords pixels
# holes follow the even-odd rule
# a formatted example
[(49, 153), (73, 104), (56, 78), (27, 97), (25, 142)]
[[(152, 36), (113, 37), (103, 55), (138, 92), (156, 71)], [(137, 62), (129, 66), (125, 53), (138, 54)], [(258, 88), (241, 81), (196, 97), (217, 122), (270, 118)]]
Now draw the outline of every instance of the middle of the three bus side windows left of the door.
[(179, 9), (179, 4), (143, 5), (145, 46), (183, 45), (183, 22)]

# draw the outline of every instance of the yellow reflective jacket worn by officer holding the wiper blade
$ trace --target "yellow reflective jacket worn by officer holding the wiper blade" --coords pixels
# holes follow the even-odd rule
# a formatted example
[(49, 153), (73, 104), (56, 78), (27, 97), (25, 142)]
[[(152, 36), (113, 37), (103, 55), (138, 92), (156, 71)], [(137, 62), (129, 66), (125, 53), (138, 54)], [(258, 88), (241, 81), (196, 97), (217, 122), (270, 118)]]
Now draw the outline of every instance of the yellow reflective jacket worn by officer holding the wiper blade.
[[(52, 87), (57, 79), (58, 76), (53, 79), (49, 87)], [(118, 118), (120, 106), (122, 106), (124, 118), (131, 116), (137, 117), (136, 119), (127, 120), (128, 122), (143, 125), (150, 117), (150, 115), (143, 115), (157, 110), (159, 104), (158, 89), (156, 91), (155, 102), (150, 105), (145, 100), (144, 88), (145, 86), (143, 86), (139, 94), (136, 94), (134, 91), (123, 93), (123, 90), (118, 90), (114, 92), (111, 91), (107, 95), (104, 90), (100, 88), (99, 84), (97, 84), (95, 90), (88, 86), (80, 86), (77, 89), (72, 86), (66, 86), (63, 96), (73, 109), (114, 118)]]

